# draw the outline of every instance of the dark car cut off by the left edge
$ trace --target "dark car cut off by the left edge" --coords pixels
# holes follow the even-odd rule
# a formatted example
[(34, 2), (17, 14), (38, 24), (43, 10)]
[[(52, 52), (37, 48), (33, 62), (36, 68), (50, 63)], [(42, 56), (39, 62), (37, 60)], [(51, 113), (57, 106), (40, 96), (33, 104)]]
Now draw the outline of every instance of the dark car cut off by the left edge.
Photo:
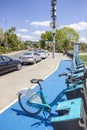
[(0, 55), (0, 75), (14, 70), (20, 70), (21, 67), (22, 65), (19, 60), (12, 59), (5, 55)]

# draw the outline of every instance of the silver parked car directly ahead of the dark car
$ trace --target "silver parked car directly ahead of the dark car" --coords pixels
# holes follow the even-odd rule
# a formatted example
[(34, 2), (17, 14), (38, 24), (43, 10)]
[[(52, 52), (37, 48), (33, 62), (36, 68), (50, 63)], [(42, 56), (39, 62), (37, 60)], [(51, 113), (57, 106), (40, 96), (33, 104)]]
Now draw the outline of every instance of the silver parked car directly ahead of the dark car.
[(36, 63), (41, 61), (41, 56), (40, 54), (38, 54), (37, 52), (34, 51), (28, 51), (28, 52), (24, 52), (20, 57), (19, 60), (22, 64), (24, 63)]

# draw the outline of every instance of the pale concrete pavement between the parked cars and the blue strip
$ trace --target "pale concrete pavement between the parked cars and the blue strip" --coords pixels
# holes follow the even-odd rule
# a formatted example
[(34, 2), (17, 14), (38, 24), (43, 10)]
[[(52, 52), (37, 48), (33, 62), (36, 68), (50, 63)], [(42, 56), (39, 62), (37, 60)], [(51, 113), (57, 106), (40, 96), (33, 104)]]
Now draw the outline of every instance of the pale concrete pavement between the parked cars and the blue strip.
[(58, 66), (61, 60), (69, 60), (70, 58), (62, 53), (55, 53), (55, 58), (52, 54), (47, 59), (34, 65), (23, 66), (21, 71), (8, 73), (0, 77), (0, 111), (17, 99), (17, 91), (32, 87), (30, 83), (32, 78), (44, 79)]

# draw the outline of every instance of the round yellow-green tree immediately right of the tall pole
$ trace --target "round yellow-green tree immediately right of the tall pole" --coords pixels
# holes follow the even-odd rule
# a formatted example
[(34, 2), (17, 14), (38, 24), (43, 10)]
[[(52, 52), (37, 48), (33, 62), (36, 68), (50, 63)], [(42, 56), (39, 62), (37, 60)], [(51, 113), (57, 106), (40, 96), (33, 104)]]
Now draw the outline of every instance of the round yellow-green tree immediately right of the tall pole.
[[(72, 28), (64, 27), (60, 30), (56, 30), (56, 49), (60, 48), (61, 43), (61, 51), (64, 49), (70, 49), (71, 48), (71, 41), (78, 41), (79, 40), (79, 34)], [(60, 49), (58, 50), (60, 51)]]

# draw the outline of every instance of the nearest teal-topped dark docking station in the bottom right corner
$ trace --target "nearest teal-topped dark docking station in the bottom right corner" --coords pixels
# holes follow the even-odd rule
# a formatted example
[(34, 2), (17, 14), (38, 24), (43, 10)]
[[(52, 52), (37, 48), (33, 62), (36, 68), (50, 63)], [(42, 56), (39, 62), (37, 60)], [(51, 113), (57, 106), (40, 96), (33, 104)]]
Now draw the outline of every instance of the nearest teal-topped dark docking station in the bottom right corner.
[(58, 117), (51, 119), (54, 130), (86, 130), (86, 114), (81, 98), (59, 103)]

